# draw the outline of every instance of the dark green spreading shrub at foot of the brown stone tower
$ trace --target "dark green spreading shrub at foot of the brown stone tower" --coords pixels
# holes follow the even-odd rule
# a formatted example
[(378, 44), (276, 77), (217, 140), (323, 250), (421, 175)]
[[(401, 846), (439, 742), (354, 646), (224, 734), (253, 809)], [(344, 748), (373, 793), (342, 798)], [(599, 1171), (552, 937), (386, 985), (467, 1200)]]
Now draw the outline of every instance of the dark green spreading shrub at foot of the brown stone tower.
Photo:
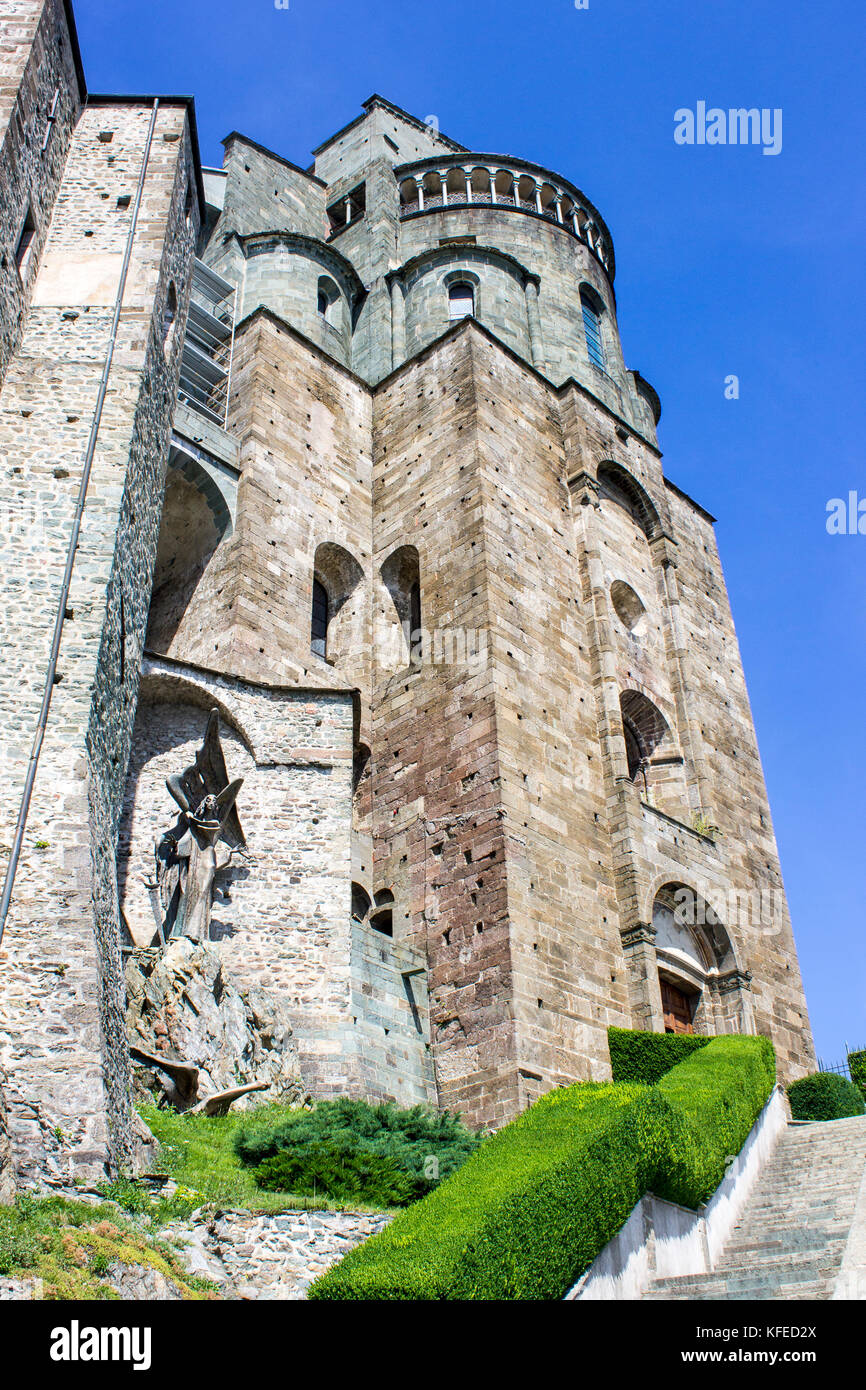
[(455, 1173), (481, 1143), (456, 1115), (427, 1105), (321, 1101), (279, 1125), (253, 1122), (235, 1152), (270, 1191), (406, 1207)]

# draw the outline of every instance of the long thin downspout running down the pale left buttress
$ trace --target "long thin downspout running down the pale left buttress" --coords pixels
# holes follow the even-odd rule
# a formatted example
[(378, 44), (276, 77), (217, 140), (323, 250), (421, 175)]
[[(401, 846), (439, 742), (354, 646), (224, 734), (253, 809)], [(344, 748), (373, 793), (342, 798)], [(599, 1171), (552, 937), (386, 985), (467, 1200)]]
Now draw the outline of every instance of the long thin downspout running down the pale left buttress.
[(60, 642), (63, 638), (63, 624), (67, 616), (67, 605), (70, 600), (70, 589), (72, 587), (72, 570), (75, 567), (75, 555), (78, 552), (78, 539), (81, 535), (81, 524), (85, 512), (85, 502), (88, 498), (88, 486), (90, 482), (90, 471), (93, 468), (93, 456), (96, 453), (96, 441), (99, 438), (99, 427), (103, 418), (103, 406), (106, 403), (106, 392), (108, 389), (108, 375), (111, 373), (111, 361), (114, 359), (114, 345), (117, 342), (117, 331), (121, 320), (121, 309), (124, 304), (124, 291), (126, 288), (126, 275), (129, 271), (129, 261), (132, 259), (132, 245), (135, 242), (135, 234), (138, 229), (139, 210), (142, 206), (142, 193), (145, 190), (145, 178), (147, 174), (147, 164), (150, 160), (150, 146), (153, 145), (153, 132), (156, 128), (157, 111), (160, 107), (158, 97), (154, 97), (153, 110), (150, 113), (150, 125), (147, 128), (147, 140), (145, 142), (145, 154), (142, 158), (142, 168), (139, 172), (138, 189), (135, 193), (135, 204), (132, 207), (132, 221), (129, 224), (129, 235), (126, 236), (126, 246), (124, 250), (124, 260), (121, 264), (121, 275), (117, 285), (117, 296), (114, 300), (114, 316), (111, 318), (111, 334), (108, 336), (108, 348), (106, 350), (106, 361), (103, 366), (101, 379), (99, 382), (99, 392), (96, 396), (96, 404), (93, 407), (93, 421), (90, 424), (90, 436), (88, 439), (88, 448), (85, 452), (83, 468), (81, 475), (81, 485), (78, 488), (78, 500), (75, 503), (75, 517), (72, 521), (72, 534), (70, 535), (70, 545), (67, 549), (67, 564), (63, 575), (63, 587), (60, 589), (60, 602), (57, 605), (57, 617), (54, 619), (54, 638), (51, 641), (51, 655), (49, 657), (49, 669), (44, 678), (44, 691), (42, 695), (42, 709), (39, 710), (39, 723), (36, 724), (36, 734), (33, 735), (33, 746), (31, 749), (31, 760), (28, 763), (26, 778), (24, 783), (24, 794), (21, 796), (21, 808), (18, 810), (18, 823), (15, 826), (15, 837), (13, 840), (13, 851), (10, 855), (10, 862), (6, 870), (6, 881), (3, 884), (3, 898), (0, 898), (0, 942), (3, 942), (3, 933), (6, 930), (6, 919), (8, 917), (10, 903), (13, 901), (13, 888), (15, 885), (15, 873), (18, 870), (18, 860), (21, 859), (21, 847), (24, 845), (24, 831), (26, 828), (26, 817), (31, 809), (31, 798), (33, 795), (33, 784), (36, 781), (36, 769), (39, 766), (39, 755), (42, 752), (42, 745), (44, 742), (44, 731), (49, 721), (49, 710), (51, 708), (51, 692), (54, 688), (54, 681), (57, 676), (57, 657), (60, 655)]

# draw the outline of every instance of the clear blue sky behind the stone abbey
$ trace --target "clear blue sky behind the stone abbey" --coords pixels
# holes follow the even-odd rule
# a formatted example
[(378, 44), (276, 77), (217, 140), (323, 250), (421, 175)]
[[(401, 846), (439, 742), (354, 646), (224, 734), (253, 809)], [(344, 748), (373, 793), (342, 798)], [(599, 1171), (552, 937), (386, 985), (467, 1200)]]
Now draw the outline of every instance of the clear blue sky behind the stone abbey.
[[(666, 473), (719, 517), (819, 1055), (866, 1045), (862, 0), (78, 0), (90, 90), (193, 93), (306, 165), (373, 92), (596, 203)], [(781, 107), (783, 150), (674, 111)], [(740, 399), (724, 378), (740, 377)]]

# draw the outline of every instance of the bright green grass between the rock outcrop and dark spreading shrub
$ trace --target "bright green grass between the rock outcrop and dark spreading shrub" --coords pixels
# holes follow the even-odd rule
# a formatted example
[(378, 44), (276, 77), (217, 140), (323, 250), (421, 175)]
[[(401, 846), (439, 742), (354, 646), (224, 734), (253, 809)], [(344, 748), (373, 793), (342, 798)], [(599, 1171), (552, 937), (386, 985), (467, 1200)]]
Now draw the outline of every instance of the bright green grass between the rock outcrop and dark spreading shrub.
[[(361, 1202), (335, 1202), (300, 1193), (263, 1191), (257, 1186), (254, 1169), (245, 1168), (235, 1152), (235, 1140), (252, 1125), (257, 1129), (279, 1129), (297, 1118), (299, 1108), (291, 1105), (261, 1105), (253, 1112), (228, 1115), (178, 1115), (156, 1106), (142, 1109), (142, 1118), (160, 1143), (157, 1170), (168, 1173), (179, 1184), (175, 1198), (154, 1204), (154, 1219), (175, 1219), (196, 1207), (215, 1205), (240, 1211), (382, 1211)], [(179, 1201), (186, 1208), (178, 1209)]]

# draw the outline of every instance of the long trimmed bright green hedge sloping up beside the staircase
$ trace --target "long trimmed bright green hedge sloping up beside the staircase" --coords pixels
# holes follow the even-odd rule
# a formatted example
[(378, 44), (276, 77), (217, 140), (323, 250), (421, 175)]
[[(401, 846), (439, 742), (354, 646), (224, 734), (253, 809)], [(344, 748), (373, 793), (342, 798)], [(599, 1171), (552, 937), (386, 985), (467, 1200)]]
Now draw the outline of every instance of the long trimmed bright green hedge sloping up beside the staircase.
[(714, 1038), (656, 1087), (552, 1091), (310, 1298), (560, 1298), (646, 1191), (696, 1207), (773, 1088), (765, 1038)]

